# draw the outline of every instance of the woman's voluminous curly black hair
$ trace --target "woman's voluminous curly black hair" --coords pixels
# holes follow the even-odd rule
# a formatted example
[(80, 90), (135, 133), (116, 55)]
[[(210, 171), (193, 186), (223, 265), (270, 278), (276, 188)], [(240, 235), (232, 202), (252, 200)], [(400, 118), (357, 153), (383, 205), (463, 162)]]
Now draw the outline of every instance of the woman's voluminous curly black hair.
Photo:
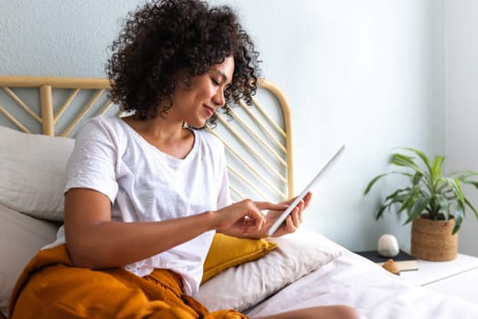
[(225, 108), (241, 98), (250, 104), (256, 93), (259, 52), (229, 6), (210, 7), (198, 0), (149, 2), (127, 15), (109, 49), (110, 98), (138, 118), (168, 114), (179, 72), (190, 87), (192, 77), (226, 57), (234, 58), (235, 67), (224, 93)]

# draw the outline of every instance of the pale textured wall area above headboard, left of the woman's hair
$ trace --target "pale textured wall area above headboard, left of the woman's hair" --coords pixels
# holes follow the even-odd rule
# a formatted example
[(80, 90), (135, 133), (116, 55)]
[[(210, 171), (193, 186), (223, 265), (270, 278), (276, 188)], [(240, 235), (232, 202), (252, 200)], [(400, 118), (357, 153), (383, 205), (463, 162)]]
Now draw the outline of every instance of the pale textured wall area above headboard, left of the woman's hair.
[(0, 73), (104, 77), (118, 18), (139, 0), (0, 1)]

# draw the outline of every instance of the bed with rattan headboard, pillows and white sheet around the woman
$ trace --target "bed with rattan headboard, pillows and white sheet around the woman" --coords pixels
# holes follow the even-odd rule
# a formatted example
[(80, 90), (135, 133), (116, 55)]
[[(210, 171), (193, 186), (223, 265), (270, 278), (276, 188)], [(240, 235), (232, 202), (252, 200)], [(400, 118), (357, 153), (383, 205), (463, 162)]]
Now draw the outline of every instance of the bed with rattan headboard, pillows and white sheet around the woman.
[[(7, 316), (16, 277), (61, 225), (76, 130), (87, 118), (121, 112), (102, 78), (0, 76), (0, 87), (0, 309)], [(252, 107), (239, 103), (218, 118), (207, 129), (226, 145), (233, 201), (293, 196), (290, 108), (280, 88), (261, 80)], [(210, 310), (250, 317), (349, 304), (368, 318), (478, 318), (478, 304), (415, 286), (306, 227), (261, 241), (215, 238), (195, 297)]]

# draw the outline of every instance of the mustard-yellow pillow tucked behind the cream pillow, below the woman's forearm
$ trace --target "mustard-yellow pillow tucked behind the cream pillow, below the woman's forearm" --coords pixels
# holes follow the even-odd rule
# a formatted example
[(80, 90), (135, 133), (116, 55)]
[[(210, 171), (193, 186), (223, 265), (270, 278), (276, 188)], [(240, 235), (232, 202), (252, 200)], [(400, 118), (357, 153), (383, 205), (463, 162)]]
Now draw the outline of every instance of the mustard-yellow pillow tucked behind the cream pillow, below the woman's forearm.
[(245, 239), (216, 233), (204, 262), (201, 283), (207, 282), (230, 267), (255, 261), (276, 247), (276, 243), (268, 242), (265, 239)]

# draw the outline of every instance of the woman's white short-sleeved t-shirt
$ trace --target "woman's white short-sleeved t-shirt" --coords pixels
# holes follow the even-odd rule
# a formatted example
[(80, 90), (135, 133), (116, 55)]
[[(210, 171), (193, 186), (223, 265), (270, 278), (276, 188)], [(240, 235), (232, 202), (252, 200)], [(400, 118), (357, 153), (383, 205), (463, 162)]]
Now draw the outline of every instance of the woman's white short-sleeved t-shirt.
[[(224, 146), (205, 130), (192, 131), (193, 148), (178, 160), (147, 143), (120, 118), (92, 118), (76, 136), (66, 190), (106, 194), (113, 203), (113, 221), (164, 221), (216, 211), (229, 203)], [(205, 232), (125, 268), (138, 276), (154, 268), (170, 269), (182, 276), (185, 293), (195, 293), (213, 234)], [(63, 230), (55, 245), (61, 242)]]

